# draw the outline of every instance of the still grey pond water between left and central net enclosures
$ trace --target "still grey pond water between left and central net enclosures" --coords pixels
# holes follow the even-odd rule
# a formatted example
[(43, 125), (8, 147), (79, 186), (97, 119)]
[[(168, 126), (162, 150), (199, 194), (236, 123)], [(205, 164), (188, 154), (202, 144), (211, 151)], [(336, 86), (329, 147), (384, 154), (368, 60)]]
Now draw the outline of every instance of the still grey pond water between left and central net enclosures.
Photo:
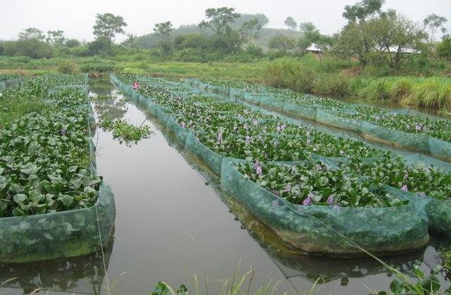
[[(116, 96), (115, 101), (94, 102), (97, 120), (123, 118), (154, 130), (149, 139), (130, 147), (103, 130), (94, 137), (98, 172), (116, 199), (114, 239), (104, 255), (0, 264), (0, 294), (39, 288), (37, 294), (149, 294), (159, 281), (173, 287), (186, 284), (190, 294), (196, 285), (202, 294), (217, 294), (238, 265), (239, 276), (254, 271), (251, 291), (272, 280), (279, 294), (303, 293), (319, 277), (323, 281), (313, 294), (388, 290), (392, 275), (371, 258), (304, 256), (280, 244), (245, 206), (221, 195), (214, 180), (207, 182), (145, 111), (132, 103), (121, 106), (121, 96), (106, 82), (90, 90), (92, 95)], [(429, 273), (440, 263), (437, 243), (383, 260), (407, 274), (414, 261), (421, 261), (421, 269)], [(450, 286), (444, 272), (439, 277), (443, 288)], [(1, 284), (8, 279), (13, 280)]]

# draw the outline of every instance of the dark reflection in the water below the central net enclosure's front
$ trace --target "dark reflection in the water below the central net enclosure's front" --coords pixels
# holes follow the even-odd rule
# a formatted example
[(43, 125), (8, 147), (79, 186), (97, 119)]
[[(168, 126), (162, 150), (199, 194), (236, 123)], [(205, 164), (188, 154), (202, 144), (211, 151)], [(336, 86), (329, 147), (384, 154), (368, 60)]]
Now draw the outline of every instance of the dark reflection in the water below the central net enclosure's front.
[[(319, 283), (341, 280), (342, 285), (345, 285), (346, 282), (349, 282), (349, 278), (366, 277), (380, 273), (387, 273), (389, 277), (391, 275), (381, 263), (378, 263), (373, 258), (344, 259), (307, 256), (299, 253), (299, 251), (292, 250), (282, 244), (269, 227), (255, 218), (246, 206), (242, 205), (233, 196), (223, 194), (222, 199), (237, 220), (241, 222), (243, 228), (246, 228), (249, 235), (268, 253), (268, 256), (270, 256), (287, 279), (303, 277), (310, 282), (316, 282), (316, 280), (321, 278)], [(414, 277), (412, 272), (416, 261), (422, 263), (422, 268), (426, 273), (440, 263), (438, 253), (431, 246), (410, 253), (385, 256), (382, 259), (388, 265), (401, 270), (411, 277)], [(443, 287), (449, 285), (445, 276), (440, 277), (440, 281)]]

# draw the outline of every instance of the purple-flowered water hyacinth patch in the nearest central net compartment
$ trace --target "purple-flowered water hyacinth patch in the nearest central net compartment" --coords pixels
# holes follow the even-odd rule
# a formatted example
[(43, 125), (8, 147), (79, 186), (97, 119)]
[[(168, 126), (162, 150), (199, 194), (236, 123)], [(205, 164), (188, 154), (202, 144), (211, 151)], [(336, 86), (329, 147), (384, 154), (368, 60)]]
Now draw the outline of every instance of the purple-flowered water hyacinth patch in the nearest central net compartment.
[(387, 194), (371, 180), (347, 170), (333, 169), (321, 161), (304, 161), (295, 165), (264, 162), (238, 163), (237, 169), (269, 192), (290, 203), (304, 206), (387, 207), (401, 206), (401, 201)]

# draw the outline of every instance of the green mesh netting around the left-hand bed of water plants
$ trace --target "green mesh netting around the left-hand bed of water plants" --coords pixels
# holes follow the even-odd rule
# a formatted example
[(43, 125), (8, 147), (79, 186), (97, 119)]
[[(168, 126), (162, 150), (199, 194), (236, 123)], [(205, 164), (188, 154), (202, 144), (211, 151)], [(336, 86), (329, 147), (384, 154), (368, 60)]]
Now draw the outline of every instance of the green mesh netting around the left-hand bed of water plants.
[[(70, 87), (80, 88), (80, 86)], [(68, 88), (56, 87), (51, 93)], [(87, 98), (87, 89), (81, 88), (86, 91)], [(95, 132), (95, 120), (92, 116), (92, 107), (86, 105), (86, 108), (89, 110), (87, 130), (89, 136), (92, 136)], [(90, 141), (88, 152), (94, 154), (94, 151), (95, 146)], [(91, 161), (90, 170), (92, 175), (96, 175), (95, 158)], [(80, 182), (78, 185), (87, 186), (90, 180), (88, 177), (85, 178), (84, 184)], [(99, 196), (91, 207), (0, 218), (0, 261), (27, 263), (92, 253), (111, 241), (115, 215), (113, 192), (106, 183), (101, 182)]]

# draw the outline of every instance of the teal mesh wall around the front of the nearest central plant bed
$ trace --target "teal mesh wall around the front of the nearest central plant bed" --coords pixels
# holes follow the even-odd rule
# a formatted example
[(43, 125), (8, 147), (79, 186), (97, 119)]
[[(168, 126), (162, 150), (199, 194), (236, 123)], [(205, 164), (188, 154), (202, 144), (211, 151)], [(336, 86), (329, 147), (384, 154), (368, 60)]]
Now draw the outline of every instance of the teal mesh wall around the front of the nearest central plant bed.
[(242, 201), (285, 244), (308, 253), (355, 256), (363, 254), (362, 249), (395, 253), (419, 248), (429, 241), (423, 202), (339, 210), (294, 206), (242, 175), (228, 158), (222, 165), (221, 190)]

